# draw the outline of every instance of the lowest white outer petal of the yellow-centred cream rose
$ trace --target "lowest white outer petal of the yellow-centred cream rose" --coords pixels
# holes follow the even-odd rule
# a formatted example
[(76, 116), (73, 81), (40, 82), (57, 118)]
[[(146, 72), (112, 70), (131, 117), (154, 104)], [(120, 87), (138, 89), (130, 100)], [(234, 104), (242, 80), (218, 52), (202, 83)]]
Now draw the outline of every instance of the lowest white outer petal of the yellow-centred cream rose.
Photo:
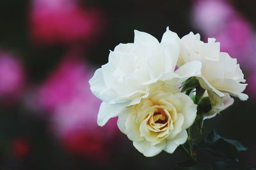
[(152, 145), (148, 141), (133, 142), (133, 146), (141, 152), (145, 157), (154, 157), (159, 154), (166, 147), (166, 143), (162, 142), (157, 145)]

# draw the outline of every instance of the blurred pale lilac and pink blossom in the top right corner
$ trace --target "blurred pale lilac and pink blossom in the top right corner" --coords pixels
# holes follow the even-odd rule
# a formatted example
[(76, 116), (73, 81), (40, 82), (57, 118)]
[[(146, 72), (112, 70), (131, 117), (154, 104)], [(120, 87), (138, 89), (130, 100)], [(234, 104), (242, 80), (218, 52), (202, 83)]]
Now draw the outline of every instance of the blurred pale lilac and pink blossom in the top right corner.
[(202, 31), (205, 38), (214, 37), (220, 41), (221, 51), (230, 53), (241, 64), (252, 55), (252, 26), (230, 3), (225, 0), (196, 1), (192, 13), (195, 28)]

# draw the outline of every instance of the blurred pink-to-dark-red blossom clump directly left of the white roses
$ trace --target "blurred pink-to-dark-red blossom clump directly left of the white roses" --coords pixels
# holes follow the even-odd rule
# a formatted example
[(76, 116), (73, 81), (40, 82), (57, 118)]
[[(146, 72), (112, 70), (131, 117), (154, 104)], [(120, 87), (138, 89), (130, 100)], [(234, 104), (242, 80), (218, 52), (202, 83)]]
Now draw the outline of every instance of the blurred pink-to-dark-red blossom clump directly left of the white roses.
[(116, 120), (97, 125), (100, 101), (90, 91), (90, 70), (82, 60), (67, 57), (38, 92), (38, 103), (51, 113), (51, 129), (71, 153), (108, 157), (108, 143), (118, 132)]

